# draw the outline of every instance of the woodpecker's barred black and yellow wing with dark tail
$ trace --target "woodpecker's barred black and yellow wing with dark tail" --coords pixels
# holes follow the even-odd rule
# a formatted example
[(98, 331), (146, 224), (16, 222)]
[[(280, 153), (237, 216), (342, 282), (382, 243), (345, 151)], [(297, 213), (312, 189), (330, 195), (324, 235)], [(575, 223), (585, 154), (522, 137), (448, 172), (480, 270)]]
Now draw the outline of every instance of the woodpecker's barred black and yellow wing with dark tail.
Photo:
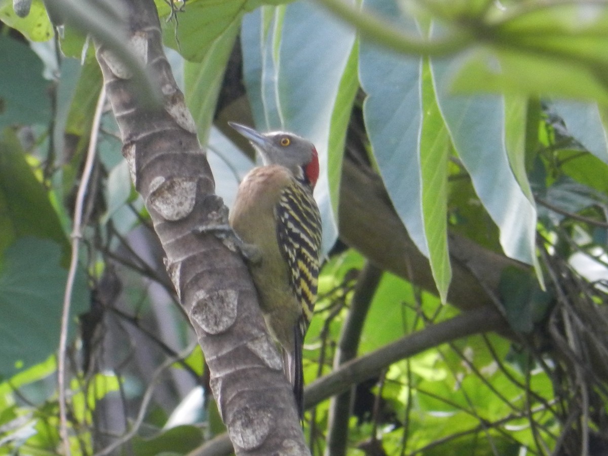
[(309, 185), (294, 179), (282, 191), (276, 215), (278, 244), (289, 267), (292, 289), (302, 307), (300, 319), (294, 326), (294, 352), (288, 353), (288, 359), (284, 361), (302, 416), (302, 344), (317, 297), (321, 248), (321, 216)]

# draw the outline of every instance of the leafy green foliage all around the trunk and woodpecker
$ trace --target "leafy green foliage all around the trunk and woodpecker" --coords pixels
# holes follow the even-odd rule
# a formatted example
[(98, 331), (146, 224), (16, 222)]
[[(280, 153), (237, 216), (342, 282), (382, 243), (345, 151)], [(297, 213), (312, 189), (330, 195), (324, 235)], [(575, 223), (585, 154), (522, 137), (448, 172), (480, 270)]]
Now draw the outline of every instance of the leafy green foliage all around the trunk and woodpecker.
[[(365, 0), (357, 33), (301, 0), (199, 0), (173, 13), (157, 2), (227, 204), (252, 162), (212, 128), (226, 132), (225, 116), (295, 131), (322, 156), (316, 198), (328, 260), (306, 339), (307, 383), (330, 373), (358, 281), (376, 277), (361, 311), (361, 356), (413, 331), (432, 335), (434, 323), (458, 313), (446, 301), (463, 308), (449, 294), (454, 236), (519, 261), (496, 272), (488, 293), (516, 334), (505, 325), (501, 336), (439, 345), (359, 384), (332, 454), (606, 449), (606, 6)], [(185, 454), (222, 426), (116, 123), (106, 112), (92, 125), (102, 80), (82, 32), (114, 25), (88, 7), (90, 24), (75, 27), (66, 13), (56, 36), (42, 2), (24, 19), (0, 2), (0, 452), (58, 448), (60, 303), (75, 188), (98, 128), (71, 306), (73, 449), (101, 452), (123, 436), (125, 452)], [(398, 33), (378, 38), (370, 11)], [(241, 83), (230, 77), (235, 58), (246, 114), (223, 106), (227, 88)], [(357, 128), (364, 140), (353, 151)], [(370, 262), (340, 237), (342, 164), (352, 156), (381, 176), (435, 288)], [(336, 429), (329, 409), (322, 402), (306, 417), (313, 454)]]

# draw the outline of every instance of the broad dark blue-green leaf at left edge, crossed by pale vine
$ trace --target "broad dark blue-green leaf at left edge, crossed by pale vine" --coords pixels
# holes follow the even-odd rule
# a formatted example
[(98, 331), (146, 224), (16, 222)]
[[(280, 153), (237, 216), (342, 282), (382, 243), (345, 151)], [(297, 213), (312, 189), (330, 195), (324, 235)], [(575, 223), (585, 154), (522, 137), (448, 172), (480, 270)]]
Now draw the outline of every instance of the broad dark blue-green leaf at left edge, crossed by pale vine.
[[(57, 350), (67, 278), (60, 260), (57, 243), (33, 237), (19, 238), (5, 250), (0, 268), (0, 376), (12, 376)], [(89, 301), (80, 274), (72, 295), (72, 317)]]

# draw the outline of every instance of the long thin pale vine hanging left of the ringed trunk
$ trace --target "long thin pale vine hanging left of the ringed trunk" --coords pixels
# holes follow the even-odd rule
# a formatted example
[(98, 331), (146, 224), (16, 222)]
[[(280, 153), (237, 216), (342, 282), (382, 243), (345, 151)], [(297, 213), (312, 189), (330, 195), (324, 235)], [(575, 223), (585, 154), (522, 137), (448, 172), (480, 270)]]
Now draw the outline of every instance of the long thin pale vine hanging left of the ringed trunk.
[(74, 278), (76, 276), (76, 268), (78, 265), (78, 246), (82, 233), (80, 231), (82, 223), (82, 211), (85, 202), (86, 189), (91, 178), (91, 171), (95, 158), (95, 147), (97, 146), (97, 133), (99, 123), (102, 118), (103, 104), (106, 100), (105, 86), (99, 93), (95, 115), (93, 117), (93, 125), (91, 127), (91, 139), (89, 140), (89, 150), (86, 155), (85, 168), (78, 186), (76, 195), (76, 204), (74, 206), (74, 226), (72, 226), (72, 258), (70, 260), (70, 269), (67, 274), (66, 291), (63, 297), (63, 311), (61, 313), (61, 333), (59, 336), (59, 353), (57, 361), (57, 377), (59, 388), (59, 433), (63, 441), (64, 454), (69, 456), (70, 441), (67, 435), (67, 413), (66, 413), (66, 393), (65, 393), (65, 377), (66, 377), (66, 348), (67, 348), (67, 325), (69, 323), (70, 303), (72, 301), (72, 289), (74, 288)]

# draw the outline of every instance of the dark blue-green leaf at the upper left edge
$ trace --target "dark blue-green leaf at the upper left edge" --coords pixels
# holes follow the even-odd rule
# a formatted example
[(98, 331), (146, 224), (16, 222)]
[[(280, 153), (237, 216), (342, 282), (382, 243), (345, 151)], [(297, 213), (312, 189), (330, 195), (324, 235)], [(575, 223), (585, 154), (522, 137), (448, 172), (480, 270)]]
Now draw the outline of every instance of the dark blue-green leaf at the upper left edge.
[(0, 35), (0, 129), (13, 123), (50, 122), (49, 81), (29, 46)]

